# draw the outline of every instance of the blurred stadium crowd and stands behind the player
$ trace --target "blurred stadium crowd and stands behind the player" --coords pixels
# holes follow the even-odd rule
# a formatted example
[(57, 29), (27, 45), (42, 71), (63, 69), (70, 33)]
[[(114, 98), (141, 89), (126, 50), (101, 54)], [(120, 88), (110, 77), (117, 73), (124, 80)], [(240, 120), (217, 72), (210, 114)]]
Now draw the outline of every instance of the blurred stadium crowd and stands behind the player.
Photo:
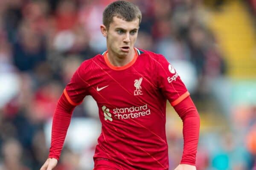
[[(113, 0), (0, 0), (0, 170), (38, 170), (52, 114), (80, 63), (105, 51), (99, 25)], [(198, 170), (256, 170), (256, 0), (131, 0), (143, 12), (137, 47), (166, 56), (201, 115)], [(182, 122), (167, 108), (170, 170)], [(91, 170), (100, 133), (88, 96), (74, 113), (56, 170)]]

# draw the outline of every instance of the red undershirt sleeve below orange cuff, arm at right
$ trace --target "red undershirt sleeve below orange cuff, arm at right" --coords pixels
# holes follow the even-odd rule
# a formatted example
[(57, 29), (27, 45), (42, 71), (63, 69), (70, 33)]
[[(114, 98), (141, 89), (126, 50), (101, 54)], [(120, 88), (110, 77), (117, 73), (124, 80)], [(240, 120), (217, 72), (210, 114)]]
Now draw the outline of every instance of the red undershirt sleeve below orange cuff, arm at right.
[(183, 156), (180, 164), (195, 165), (199, 139), (200, 117), (190, 96), (174, 106), (183, 121)]

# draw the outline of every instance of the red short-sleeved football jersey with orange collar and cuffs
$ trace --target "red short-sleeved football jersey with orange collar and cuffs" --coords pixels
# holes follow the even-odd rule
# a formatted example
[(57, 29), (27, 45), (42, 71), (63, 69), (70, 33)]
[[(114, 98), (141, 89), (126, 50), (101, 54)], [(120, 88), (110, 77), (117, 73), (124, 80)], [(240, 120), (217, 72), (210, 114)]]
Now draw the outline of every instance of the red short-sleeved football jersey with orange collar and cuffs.
[(167, 170), (166, 100), (175, 107), (189, 92), (165, 57), (134, 50), (134, 59), (123, 67), (111, 65), (108, 51), (84, 61), (64, 89), (64, 96), (73, 106), (86, 95), (97, 102), (102, 133), (95, 163), (110, 162), (124, 170)]

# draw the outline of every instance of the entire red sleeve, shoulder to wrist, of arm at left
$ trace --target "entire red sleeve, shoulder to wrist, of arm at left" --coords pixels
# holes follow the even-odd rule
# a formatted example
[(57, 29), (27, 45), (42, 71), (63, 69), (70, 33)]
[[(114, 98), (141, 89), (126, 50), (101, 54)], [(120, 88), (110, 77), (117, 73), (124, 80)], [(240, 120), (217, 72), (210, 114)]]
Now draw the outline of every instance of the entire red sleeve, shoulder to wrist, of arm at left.
[(85, 82), (87, 74), (84, 72), (88, 65), (90, 63), (87, 61), (80, 65), (58, 101), (52, 120), (52, 141), (49, 158), (60, 158), (72, 112), (76, 105), (79, 105), (83, 101), (84, 96), (88, 94)]

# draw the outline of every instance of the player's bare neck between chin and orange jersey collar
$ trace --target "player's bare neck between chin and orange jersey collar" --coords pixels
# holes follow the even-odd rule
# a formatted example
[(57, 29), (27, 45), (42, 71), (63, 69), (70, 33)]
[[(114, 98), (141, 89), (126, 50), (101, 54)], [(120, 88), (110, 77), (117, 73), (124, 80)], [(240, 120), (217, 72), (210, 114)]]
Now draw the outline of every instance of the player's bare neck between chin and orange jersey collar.
[(113, 51), (108, 51), (108, 60), (109, 62), (116, 66), (116, 67), (122, 67), (124, 65), (127, 65), (131, 60), (134, 58), (135, 55), (135, 49), (131, 49), (127, 56), (118, 56), (113, 53)]

